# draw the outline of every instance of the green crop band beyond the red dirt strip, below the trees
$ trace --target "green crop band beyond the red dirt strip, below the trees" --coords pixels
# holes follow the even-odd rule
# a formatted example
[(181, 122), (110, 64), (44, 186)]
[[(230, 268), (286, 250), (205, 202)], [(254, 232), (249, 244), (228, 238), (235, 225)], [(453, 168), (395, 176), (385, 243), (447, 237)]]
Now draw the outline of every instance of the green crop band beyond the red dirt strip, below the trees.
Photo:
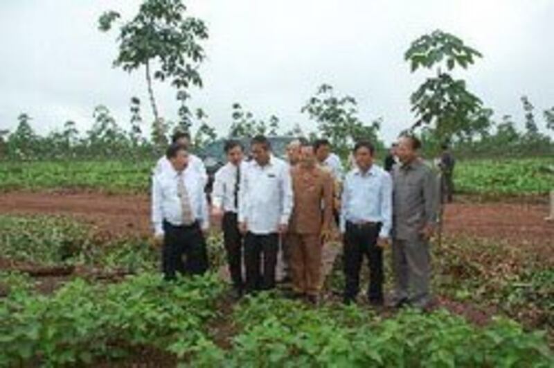
[[(107, 193), (148, 193), (154, 162), (2, 162), (0, 191), (87, 189)], [(456, 191), (474, 195), (545, 195), (554, 188), (554, 159), (461, 160)]]

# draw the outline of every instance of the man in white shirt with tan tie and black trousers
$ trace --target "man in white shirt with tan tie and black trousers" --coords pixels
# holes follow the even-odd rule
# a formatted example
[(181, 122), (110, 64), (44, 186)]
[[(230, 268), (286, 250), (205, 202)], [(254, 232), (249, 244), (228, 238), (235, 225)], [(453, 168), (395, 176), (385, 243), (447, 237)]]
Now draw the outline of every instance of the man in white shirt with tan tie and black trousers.
[(186, 147), (173, 143), (166, 157), (170, 169), (152, 179), (152, 224), (157, 243), (163, 243), (164, 277), (171, 280), (176, 272), (202, 274), (208, 269), (204, 231), (209, 216), (203, 179), (190, 168)]

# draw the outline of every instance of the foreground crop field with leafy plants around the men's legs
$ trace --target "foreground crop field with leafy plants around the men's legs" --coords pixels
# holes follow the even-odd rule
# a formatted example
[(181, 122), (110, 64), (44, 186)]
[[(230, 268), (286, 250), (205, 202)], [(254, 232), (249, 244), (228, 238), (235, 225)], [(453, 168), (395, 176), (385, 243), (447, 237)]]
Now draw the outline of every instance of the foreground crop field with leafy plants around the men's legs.
[[(100, 230), (66, 216), (0, 215), (1, 366), (554, 364), (552, 243), (450, 234), (434, 250), (436, 307), (422, 314), (343, 307), (340, 252), (319, 307), (281, 290), (233, 302), (217, 272), (219, 236), (208, 242), (211, 274), (164, 283), (147, 238)], [(390, 290), (389, 259), (387, 249)]]

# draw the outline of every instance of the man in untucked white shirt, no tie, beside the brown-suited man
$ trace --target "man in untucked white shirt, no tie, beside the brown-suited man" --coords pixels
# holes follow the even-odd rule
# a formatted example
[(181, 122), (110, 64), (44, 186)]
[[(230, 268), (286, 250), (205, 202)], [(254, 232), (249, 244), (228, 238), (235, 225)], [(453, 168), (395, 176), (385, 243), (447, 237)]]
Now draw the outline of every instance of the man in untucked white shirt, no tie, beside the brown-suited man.
[[(244, 238), (246, 290), (275, 287), (279, 236), (287, 232), (292, 212), (292, 184), (285, 161), (271, 155), (263, 136), (251, 141), (253, 161), (247, 166), (239, 193), (238, 220)], [(260, 262), (263, 259), (263, 273)]]

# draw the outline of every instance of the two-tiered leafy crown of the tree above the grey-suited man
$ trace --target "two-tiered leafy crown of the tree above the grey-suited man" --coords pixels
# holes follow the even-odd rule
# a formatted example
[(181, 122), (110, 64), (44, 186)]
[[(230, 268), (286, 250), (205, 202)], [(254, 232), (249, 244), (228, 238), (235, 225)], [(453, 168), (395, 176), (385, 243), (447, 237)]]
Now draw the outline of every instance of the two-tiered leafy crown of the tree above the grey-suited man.
[(481, 114), (481, 100), (467, 90), (464, 80), (456, 80), (446, 71), (456, 66), (466, 69), (481, 53), (466, 46), (461, 39), (435, 30), (415, 40), (404, 59), (411, 72), (420, 67), (435, 69), (435, 76), (427, 80), (411, 95), (416, 122), (411, 130), (430, 125), (440, 141), (452, 139), (455, 134), (469, 134), (475, 122), (472, 116)]

